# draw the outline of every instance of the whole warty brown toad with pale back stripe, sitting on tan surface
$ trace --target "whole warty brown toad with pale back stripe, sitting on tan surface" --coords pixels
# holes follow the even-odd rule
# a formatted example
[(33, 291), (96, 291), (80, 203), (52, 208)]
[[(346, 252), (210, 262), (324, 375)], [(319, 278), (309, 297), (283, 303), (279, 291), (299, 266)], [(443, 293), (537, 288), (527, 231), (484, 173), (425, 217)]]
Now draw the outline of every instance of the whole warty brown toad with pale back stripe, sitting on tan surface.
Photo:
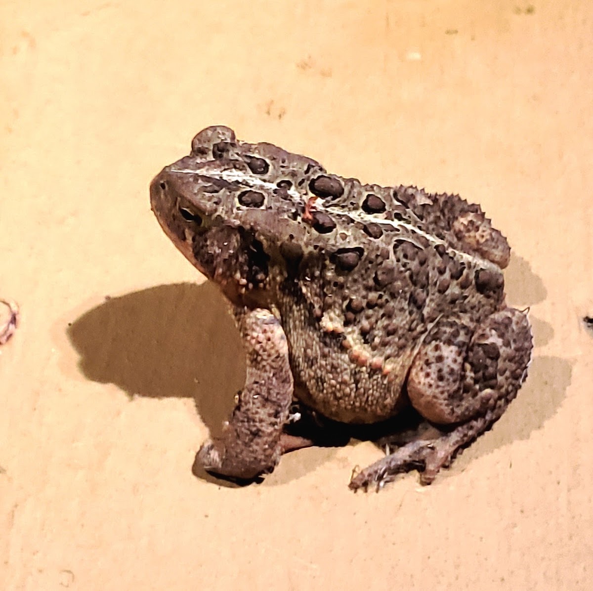
[(212, 471), (250, 478), (307, 445), (282, 434), (294, 395), (356, 424), (412, 404), (441, 436), (410, 441), (350, 487), (410, 468), (428, 483), (527, 375), (530, 324), (503, 290), (509, 246), (457, 195), (364, 185), (215, 126), (155, 177), (151, 205), (231, 302), (246, 342), (246, 388), (198, 455)]

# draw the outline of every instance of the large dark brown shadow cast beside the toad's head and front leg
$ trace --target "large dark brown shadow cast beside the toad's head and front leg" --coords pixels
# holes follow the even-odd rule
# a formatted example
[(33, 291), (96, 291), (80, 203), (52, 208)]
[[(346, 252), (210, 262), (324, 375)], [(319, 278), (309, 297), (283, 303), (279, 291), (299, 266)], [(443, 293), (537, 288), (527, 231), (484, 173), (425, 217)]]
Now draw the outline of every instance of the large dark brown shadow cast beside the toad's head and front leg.
[[(219, 435), (245, 380), (240, 336), (225, 299), (209, 282), (161, 285), (109, 298), (72, 322), (67, 334), (88, 379), (116, 384), (130, 397), (193, 398), (212, 436)], [(332, 453), (327, 448), (313, 462), (323, 464)], [(314, 468), (297, 462), (284, 471), (283, 481)], [(193, 469), (205, 480), (235, 485), (196, 465)]]

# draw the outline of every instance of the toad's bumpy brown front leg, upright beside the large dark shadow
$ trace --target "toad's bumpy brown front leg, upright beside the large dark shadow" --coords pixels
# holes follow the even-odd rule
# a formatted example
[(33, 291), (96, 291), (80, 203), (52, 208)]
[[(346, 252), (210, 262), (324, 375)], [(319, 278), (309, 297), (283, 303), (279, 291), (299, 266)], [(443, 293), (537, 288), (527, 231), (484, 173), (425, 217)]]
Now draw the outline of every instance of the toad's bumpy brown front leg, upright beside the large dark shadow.
[(197, 461), (216, 474), (250, 479), (271, 472), (288, 442), (282, 427), (292, 402), (292, 373), (282, 326), (266, 309), (235, 308), (247, 353), (247, 378), (222, 436), (202, 445)]

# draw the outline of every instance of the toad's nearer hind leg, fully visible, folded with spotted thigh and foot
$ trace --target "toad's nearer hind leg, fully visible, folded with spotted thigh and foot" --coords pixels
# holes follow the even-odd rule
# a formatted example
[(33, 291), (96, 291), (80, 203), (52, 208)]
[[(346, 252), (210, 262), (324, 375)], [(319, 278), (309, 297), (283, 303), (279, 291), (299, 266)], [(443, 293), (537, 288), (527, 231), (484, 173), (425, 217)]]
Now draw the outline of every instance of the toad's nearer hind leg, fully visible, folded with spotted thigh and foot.
[(527, 376), (533, 347), (527, 314), (495, 312), (473, 335), (455, 320), (432, 328), (417, 352), (407, 380), (412, 405), (445, 427), (436, 438), (407, 443), (356, 475), (350, 488), (366, 488), (418, 468), (423, 484), (448, 466), (458, 449), (488, 429), (505, 411)]

